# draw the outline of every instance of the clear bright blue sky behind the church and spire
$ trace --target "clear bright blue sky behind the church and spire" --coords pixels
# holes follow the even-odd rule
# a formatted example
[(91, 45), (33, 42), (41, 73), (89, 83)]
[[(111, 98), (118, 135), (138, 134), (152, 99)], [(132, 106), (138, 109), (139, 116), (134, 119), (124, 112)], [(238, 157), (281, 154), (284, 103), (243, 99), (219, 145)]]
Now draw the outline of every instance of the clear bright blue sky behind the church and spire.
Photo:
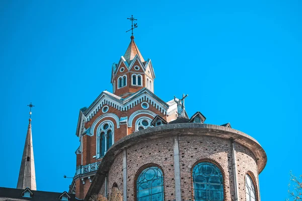
[[(0, 186), (16, 187), (32, 115), (38, 190), (68, 190), (79, 110), (110, 84), (130, 42), (152, 59), (155, 93), (189, 94), (186, 110), (254, 137), (268, 163), (262, 200), (302, 174), (301, 1), (1, 1)], [(275, 193), (277, 192), (277, 193)]]

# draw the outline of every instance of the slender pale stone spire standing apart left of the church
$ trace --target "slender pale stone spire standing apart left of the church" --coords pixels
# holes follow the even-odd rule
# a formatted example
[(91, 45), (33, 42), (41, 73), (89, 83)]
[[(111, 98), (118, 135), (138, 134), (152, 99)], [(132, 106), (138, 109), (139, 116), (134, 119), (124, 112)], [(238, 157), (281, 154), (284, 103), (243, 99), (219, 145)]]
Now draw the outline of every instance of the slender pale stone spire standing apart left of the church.
[(33, 139), (31, 131), (31, 109), (34, 107), (32, 103), (28, 105), (30, 108), (29, 112), (29, 123), (27, 129), (27, 135), (25, 139), (25, 145), (21, 160), (21, 167), (19, 172), (19, 178), (17, 183), (17, 188), (25, 189), (30, 188), (31, 190), (37, 190), (36, 186), (36, 173), (35, 173), (35, 160), (34, 160), (34, 150), (33, 150)]

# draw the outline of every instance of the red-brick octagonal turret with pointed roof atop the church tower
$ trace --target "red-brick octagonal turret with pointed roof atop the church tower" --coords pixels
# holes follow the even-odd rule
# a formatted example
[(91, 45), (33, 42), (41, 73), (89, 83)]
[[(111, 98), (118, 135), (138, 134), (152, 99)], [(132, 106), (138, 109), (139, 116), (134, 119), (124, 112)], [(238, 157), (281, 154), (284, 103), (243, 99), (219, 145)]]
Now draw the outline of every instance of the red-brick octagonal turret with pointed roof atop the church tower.
[(131, 36), (124, 56), (121, 56), (118, 64), (112, 65), (113, 93), (125, 98), (144, 87), (154, 92), (154, 79), (151, 60), (144, 60)]

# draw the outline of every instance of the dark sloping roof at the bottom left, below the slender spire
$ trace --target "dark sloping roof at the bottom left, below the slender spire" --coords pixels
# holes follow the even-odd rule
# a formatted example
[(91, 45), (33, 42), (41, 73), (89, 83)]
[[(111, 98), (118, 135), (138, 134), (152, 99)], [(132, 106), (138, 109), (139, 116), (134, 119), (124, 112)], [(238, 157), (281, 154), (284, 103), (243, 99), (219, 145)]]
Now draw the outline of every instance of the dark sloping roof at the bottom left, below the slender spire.
[[(21, 194), (24, 189), (17, 189), (17, 188), (5, 188), (0, 187), (0, 198), (15, 198), (15, 199), (24, 199), (24, 200), (32, 200), (32, 201), (59, 201), (59, 197), (63, 192), (48, 192), (48, 191), (40, 191), (40, 190), (31, 190), (33, 192), (32, 197), (23, 197)], [(70, 194), (69, 201), (79, 200), (75, 198), (75, 194)], [(8, 199), (14, 200), (14, 199)]]

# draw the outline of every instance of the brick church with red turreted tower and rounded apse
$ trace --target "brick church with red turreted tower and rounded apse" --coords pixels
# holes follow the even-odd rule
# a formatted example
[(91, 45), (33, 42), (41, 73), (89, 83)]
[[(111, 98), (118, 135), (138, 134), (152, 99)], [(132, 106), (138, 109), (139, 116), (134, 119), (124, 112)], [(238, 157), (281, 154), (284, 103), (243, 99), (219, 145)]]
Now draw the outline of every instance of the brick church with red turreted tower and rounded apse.
[(200, 112), (189, 117), (184, 95), (165, 102), (155, 78), (132, 34), (112, 65), (112, 92), (80, 110), (69, 193), (89, 200), (117, 187), (123, 200), (260, 200), (258, 175), (267, 162), (260, 144), (230, 123), (204, 124)]

